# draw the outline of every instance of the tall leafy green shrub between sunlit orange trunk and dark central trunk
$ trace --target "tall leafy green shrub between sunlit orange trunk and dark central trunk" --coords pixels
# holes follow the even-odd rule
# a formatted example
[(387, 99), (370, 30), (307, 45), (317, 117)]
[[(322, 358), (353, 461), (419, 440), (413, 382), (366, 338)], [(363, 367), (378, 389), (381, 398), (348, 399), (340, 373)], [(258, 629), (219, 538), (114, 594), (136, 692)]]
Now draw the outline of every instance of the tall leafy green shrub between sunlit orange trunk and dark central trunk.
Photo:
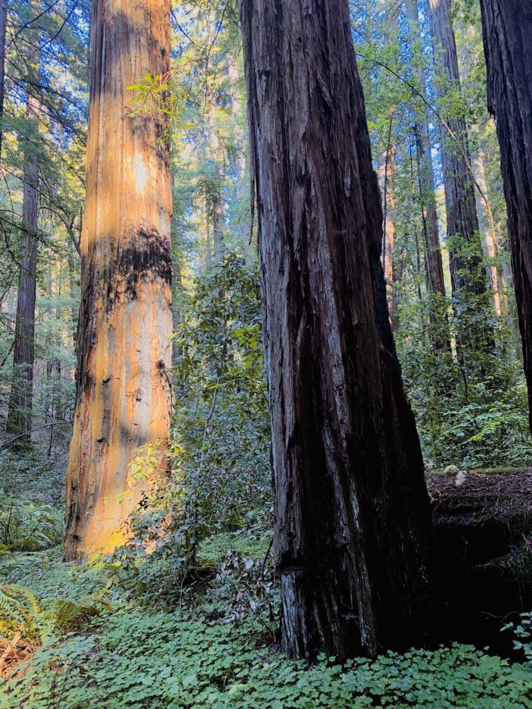
[[(271, 506), (270, 431), (257, 268), (229, 254), (194, 284), (177, 332), (172, 474), (151, 481), (128, 520), (113, 579), (143, 596), (209, 574), (198, 547), (214, 532), (258, 525)], [(150, 476), (153, 450), (130, 469)], [(270, 520), (271, 521), (271, 520)], [(192, 574), (192, 576), (191, 576)]]

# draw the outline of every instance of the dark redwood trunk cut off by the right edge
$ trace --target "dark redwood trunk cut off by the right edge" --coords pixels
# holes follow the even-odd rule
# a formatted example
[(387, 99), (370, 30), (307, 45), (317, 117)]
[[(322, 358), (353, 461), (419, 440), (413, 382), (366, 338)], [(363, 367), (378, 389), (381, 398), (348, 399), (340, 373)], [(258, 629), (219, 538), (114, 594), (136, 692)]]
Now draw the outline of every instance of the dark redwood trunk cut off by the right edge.
[[(532, 412), (532, 5), (481, 0), (488, 108), (497, 121), (523, 364)], [(532, 428), (532, 423), (531, 423)]]

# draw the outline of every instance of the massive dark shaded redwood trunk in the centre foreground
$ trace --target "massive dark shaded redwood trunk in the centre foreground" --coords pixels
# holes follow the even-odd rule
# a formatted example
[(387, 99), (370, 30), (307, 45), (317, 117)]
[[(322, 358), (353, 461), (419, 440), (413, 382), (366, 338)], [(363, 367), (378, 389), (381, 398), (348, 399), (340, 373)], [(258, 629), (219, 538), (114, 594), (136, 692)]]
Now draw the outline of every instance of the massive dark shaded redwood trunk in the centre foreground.
[(388, 320), (347, 0), (239, 0), (257, 189), (282, 642), (421, 642), (430, 529)]

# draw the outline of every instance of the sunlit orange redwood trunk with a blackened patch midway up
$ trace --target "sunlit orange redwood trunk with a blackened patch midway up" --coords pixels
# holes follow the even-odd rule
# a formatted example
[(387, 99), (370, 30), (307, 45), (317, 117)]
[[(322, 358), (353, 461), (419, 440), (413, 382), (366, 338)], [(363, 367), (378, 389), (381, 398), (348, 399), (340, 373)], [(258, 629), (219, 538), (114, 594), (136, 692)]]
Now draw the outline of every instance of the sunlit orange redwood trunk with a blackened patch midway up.
[(170, 0), (94, 1), (67, 559), (116, 545), (118, 527), (141, 493), (129, 490), (128, 464), (139, 446), (168, 440), (172, 202), (166, 119), (157, 108), (148, 118), (134, 113), (138, 107), (127, 87), (169, 68)]

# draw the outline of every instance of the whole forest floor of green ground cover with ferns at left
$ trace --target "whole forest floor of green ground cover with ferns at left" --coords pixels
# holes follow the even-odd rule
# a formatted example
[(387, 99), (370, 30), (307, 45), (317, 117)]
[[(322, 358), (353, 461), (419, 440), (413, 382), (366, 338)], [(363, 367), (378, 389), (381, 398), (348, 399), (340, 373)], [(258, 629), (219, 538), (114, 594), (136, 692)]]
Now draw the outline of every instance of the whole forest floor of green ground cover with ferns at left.
[[(60, 520), (54, 495), (42, 504)], [(136, 587), (101, 559), (62, 563), (58, 545), (4, 550), (0, 708), (532, 709), (532, 665), (470, 645), (289, 661), (269, 546), (253, 530), (214, 535), (200, 548), (204, 574), (172, 577), (164, 562)]]

